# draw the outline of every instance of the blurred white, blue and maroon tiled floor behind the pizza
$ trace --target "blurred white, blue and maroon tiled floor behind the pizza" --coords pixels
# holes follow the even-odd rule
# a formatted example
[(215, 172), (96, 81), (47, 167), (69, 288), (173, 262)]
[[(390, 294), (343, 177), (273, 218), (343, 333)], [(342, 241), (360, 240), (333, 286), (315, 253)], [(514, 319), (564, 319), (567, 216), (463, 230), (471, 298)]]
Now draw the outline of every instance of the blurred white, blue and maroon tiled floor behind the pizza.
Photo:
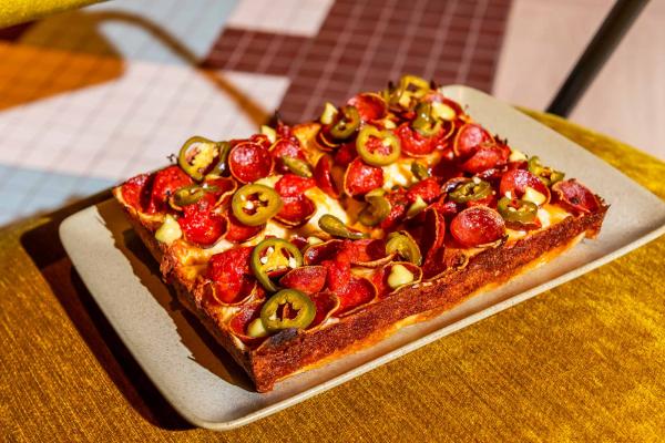
[(0, 30), (0, 224), (163, 165), (190, 135), (402, 73), (490, 90), (510, 0), (116, 0)]

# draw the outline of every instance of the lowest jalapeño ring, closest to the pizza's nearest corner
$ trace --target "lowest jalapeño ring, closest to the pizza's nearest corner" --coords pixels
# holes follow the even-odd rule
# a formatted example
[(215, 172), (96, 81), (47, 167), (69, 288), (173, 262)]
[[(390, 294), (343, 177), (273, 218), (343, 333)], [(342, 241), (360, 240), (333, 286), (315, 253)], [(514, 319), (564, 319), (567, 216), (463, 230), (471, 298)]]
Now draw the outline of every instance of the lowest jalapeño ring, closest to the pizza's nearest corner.
[(283, 329), (305, 329), (316, 316), (316, 306), (296, 289), (282, 289), (266, 301), (260, 310), (260, 321), (268, 332)]

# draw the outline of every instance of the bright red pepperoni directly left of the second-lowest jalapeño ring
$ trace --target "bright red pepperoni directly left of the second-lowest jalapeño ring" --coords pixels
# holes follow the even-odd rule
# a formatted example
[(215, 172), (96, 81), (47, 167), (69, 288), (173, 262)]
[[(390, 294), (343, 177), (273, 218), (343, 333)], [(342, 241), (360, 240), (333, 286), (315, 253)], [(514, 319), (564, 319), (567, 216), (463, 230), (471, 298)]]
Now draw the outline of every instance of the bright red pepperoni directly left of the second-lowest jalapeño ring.
[(236, 247), (215, 254), (205, 272), (212, 280), (215, 298), (223, 303), (235, 303), (248, 297), (256, 286), (249, 267), (252, 247)]

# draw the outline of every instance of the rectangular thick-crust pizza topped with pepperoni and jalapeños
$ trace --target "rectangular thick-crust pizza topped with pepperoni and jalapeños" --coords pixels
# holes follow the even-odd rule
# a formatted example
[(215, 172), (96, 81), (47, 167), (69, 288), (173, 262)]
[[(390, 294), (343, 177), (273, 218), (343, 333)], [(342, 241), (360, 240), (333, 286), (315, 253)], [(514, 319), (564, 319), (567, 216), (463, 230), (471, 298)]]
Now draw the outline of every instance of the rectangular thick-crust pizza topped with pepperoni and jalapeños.
[(173, 163), (114, 196), (259, 392), (597, 236), (608, 207), (413, 75)]

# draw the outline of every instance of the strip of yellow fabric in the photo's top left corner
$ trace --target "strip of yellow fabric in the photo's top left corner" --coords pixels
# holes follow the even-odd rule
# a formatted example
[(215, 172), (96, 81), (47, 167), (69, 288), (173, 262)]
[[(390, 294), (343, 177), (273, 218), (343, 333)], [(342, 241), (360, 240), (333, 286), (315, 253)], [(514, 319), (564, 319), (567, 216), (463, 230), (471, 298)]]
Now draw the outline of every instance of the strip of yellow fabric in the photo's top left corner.
[(103, 0), (2, 0), (0, 1), (0, 28), (100, 1)]

